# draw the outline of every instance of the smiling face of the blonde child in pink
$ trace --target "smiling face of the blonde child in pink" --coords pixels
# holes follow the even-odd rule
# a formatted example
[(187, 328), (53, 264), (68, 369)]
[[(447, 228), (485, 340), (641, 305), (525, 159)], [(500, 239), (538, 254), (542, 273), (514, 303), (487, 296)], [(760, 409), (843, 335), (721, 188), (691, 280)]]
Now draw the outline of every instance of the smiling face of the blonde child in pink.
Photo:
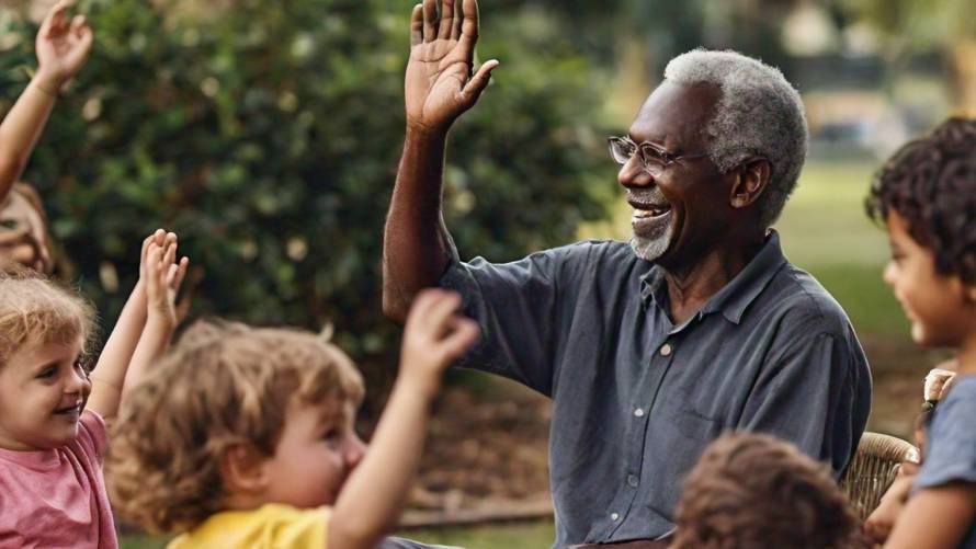
[(70, 443), (91, 391), (78, 362), (81, 342), (48, 343), (0, 367), (0, 447), (41, 450)]

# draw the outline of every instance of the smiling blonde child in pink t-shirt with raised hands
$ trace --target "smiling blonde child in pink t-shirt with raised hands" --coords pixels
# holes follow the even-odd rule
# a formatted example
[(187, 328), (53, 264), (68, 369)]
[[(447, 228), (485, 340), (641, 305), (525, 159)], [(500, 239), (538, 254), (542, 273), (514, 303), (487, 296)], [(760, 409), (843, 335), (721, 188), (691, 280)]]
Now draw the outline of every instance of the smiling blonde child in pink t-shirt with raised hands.
[(175, 236), (143, 245), (140, 278), (91, 378), (91, 308), (36, 273), (0, 275), (0, 542), (117, 547), (102, 479), (105, 421), (173, 329), (186, 270)]

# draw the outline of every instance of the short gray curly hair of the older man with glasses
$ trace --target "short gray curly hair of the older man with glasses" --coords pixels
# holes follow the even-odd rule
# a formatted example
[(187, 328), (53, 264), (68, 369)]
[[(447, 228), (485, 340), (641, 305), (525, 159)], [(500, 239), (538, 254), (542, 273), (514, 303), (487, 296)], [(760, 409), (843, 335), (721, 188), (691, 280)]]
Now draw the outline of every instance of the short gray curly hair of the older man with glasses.
[(769, 160), (770, 181), (758, 206), (764, 226), (773, 225), (806, 159), (807, 126), (799, 93), (779, 69), (737, 52), (693, 49), (671, 59), (665, 78), (722, 90), (704, 128), (711, 141), (708, 157), (722, 171), (750, 156)]

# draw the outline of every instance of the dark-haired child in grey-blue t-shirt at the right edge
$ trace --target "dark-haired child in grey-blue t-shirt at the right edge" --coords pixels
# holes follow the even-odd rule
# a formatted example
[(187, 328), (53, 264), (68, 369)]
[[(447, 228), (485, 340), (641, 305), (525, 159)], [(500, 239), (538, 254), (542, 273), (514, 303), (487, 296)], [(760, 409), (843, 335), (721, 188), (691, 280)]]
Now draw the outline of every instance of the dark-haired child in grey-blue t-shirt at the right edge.
[(884, 222), (884, 272), (911, 338), (957, 350), (952, 389), (932, 412), (911, 495), (885, 547), (976, 548), (976, 121), (950, 118), (878, 172), (869, 215)]

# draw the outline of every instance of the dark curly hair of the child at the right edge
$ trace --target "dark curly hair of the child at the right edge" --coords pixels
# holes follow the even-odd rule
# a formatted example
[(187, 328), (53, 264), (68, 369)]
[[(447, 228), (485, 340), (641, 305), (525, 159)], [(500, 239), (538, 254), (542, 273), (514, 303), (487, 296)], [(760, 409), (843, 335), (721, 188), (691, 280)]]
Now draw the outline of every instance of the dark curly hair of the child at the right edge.
[(879, 224), (897, 211), (940, 274), (976, 284), (976, 121), (949, 118), (901, 147), (875, 174), (865, 206)]

